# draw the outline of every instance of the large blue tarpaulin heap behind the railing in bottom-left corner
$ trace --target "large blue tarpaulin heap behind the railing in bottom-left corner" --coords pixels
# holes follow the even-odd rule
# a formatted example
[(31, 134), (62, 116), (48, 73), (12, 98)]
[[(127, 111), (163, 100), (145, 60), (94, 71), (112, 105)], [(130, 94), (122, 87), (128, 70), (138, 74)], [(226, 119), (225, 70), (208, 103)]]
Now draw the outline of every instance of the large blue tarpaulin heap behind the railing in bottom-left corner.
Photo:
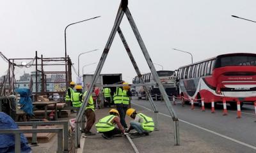
[[(19, 129), (14, 120), (6, 113), (0, 112), (0, 129)], [(0, 153), (15, 152), (15, 135), (13, 134), (0, 134)], [(20, 135), (20, 152), (31, 152), (28, 145), (27, 138)]]

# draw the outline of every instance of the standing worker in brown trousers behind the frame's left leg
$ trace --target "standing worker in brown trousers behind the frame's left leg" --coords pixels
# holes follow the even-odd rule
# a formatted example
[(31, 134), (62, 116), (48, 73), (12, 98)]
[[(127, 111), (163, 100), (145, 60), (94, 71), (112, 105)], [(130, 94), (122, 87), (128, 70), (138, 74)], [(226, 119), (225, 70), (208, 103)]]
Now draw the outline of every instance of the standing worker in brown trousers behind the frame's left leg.
[[(93, 89), (94, 90), (94, 89)], [(86, 92), (84, 92), (82, 100), (84, 101), (84, 98), (86, 96)], [(86, 127), (84, 128), (84, 135), (95, 135), (95, 133), (92, 133), (90, 130), (92, 129), (93, 124), (95, 123), (96, 117), (95, 117), (95, 108), (93, 103), (92, 95), (90, 95), (89, 101), (87, 106), (85, 107), (84, 115), (86, 116)]]

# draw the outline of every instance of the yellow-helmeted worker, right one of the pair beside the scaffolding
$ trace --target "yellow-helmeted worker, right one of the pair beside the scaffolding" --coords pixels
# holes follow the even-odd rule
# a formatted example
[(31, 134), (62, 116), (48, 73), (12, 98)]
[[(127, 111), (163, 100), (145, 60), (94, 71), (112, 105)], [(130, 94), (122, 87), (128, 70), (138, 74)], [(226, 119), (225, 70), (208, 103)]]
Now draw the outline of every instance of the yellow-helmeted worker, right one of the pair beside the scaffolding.
[(82, 106), (83, 87), (82, 85), (76, 85), (75, 89), (76, 92), (73, 92), (71, 96), (72, 106), (80, 108)]

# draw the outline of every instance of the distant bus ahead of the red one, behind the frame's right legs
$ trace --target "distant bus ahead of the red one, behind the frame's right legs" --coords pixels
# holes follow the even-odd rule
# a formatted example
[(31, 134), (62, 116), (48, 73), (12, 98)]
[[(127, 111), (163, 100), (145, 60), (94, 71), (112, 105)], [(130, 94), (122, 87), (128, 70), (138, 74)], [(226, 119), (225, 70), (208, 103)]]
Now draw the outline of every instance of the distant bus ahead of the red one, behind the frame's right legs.
[[(176, 92), (176, 83), (175, 83), (176, 82), (175, 71), (167, 71), (167, 70), (157, 71), (157, 74), (168, 96), (176, 95), (177, 92)], [(159, 88), (156, 85), (156, 82), (154, 81), (154, 77), (152, 73), (143, 74), (142, 79), (145, 82), (145, 84), (148, 84), (147, 89), (152, 95), (152, 98), (160, 98), (161, 92), (159, 91)], [(142, 81), (137, 76), (133, 78), (132, 84), (142, 84)], [(147, 98), (146, 92), (144, 91), (142, 86), (136, 87), (135, 91), (139, 99)]]

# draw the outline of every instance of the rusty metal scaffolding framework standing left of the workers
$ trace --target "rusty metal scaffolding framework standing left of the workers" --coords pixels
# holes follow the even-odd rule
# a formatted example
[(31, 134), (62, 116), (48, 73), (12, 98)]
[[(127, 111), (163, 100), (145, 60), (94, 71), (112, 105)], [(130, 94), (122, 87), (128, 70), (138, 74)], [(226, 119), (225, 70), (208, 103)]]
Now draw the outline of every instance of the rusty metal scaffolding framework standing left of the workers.
[[(23, 61), (29, 61), (29, 63), (22, 63)], [(67, 61), (67, 62), (65, 62)], [(35, 87), (35, 91), (32, 90), (32, 93), (36, 96), (45, 95), (45, 94), (53, 94), (58, 93), (60, 96), (64, 96), (65, 92), (67, 91), (67, 84), (72, 80), (72, 73), (71, 73), (71, 66), (72, 62), (69, 57), (65, 59), (65, 57), (43, 57), (40, 55), (38, 57), (37, 51), (35, 52), (34, 58), (20, 58), (20, 59), (8, 59), (9, 68), (8, 68), (8, 75), (7, 75), (7, 83), (9, 85), (8, 92), (12, 94), (15, 92), (15, 87), (17, 84), (22, 84), (17, 82), (15, 79), (15, 69), (17, 68), (30, 68), (31, 70), (31, 78), (28, 82), (24, 82), (25, 84), (29, 84), (29, 89), (33, 89), (33, 84)], [(50, 68), (51, 66), (51, 68)], [(54, 69), (54, 67), (58, 67), (58, 69), (65, 69), (65, 71), (50, 71)], [(64, 68), (65, 66), (65, 68)], [(62, 68), (63, 67), (63, 68)], [(67, 67), (67, 69), (66, 69)], [(47, 71), (45, 71), (47, 69)], [(49, 69), (49, 70), (48, 70)], [(33, 71), (33, 73), (32, 73)], [(47, 79), (47, 77), (51, 77), (52, 75), (56, 75), (56, 81), (52, 81)], [(66, 77), (67, 76), (67, 77)], [(35, 78), (33, 80), (32, 78)], [(32, 85), (31, 85), (32, 84)], [(53, 91), (49, 91), (49, 87), (47, 85), (60, 85), (61, 90), (52, 89)], [(40, 87), (40, 89), (38, 89)]]

